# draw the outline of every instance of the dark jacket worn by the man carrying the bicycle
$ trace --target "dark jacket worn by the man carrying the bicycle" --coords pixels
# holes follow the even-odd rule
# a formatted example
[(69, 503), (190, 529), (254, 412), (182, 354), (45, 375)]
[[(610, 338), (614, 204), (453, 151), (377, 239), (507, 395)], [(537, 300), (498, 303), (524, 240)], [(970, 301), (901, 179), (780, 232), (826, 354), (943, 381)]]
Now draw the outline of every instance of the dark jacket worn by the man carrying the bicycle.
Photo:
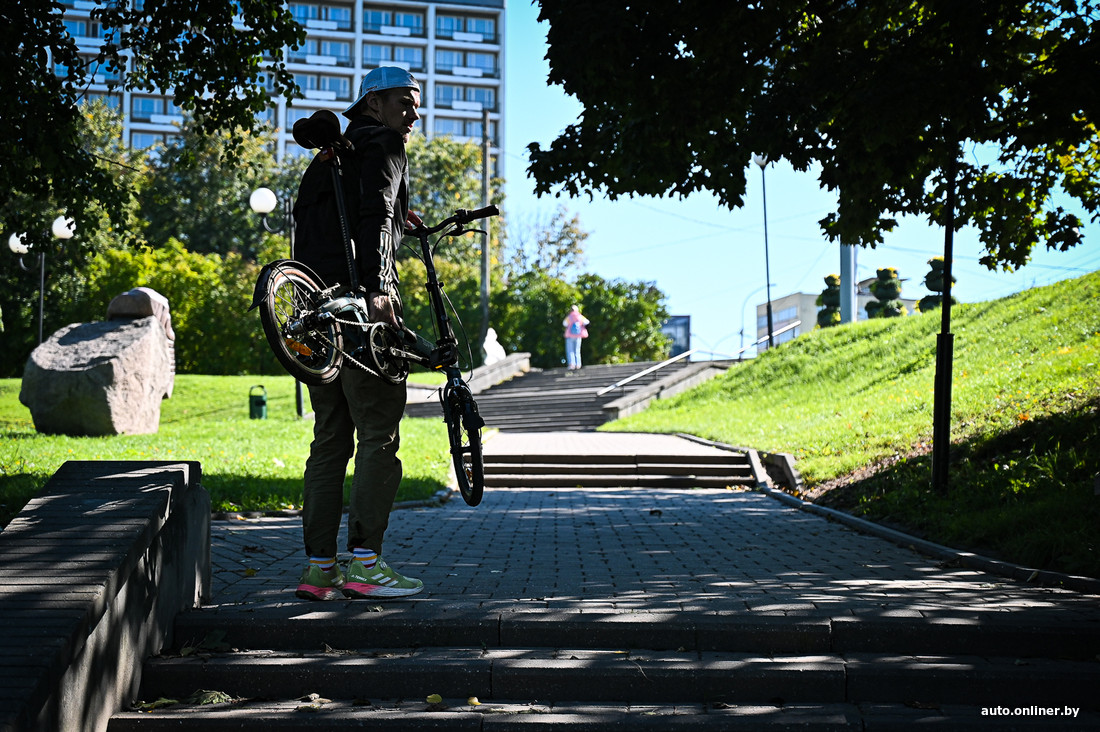
[[(356, 117), (344, 131), (354, 150), (340, 155), (344, 209), (359, 284), (367, 292), (397, 297), (397, 247), (409, 208), (409, 166), (396, 130)], [(346, 256), (336, 214), (330, 166), (315, 157), (301, 177), (294, 206), (295, 259), (324, 280), (349, 284)]]

